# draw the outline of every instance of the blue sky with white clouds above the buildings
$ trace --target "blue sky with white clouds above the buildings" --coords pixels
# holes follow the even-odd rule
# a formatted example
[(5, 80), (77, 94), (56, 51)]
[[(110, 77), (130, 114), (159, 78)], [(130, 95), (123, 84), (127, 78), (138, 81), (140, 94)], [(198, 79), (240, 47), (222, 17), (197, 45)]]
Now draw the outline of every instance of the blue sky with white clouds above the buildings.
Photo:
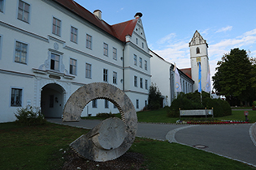
[(224, 53), (239, 48), (256, 57), (256, 0), (75, 0), (102, 11), (110, 25), (142, 13), (147, 44), (179, 69), (190, 67), (189, 42), (197, 30), (208, 44), (210, 75)]

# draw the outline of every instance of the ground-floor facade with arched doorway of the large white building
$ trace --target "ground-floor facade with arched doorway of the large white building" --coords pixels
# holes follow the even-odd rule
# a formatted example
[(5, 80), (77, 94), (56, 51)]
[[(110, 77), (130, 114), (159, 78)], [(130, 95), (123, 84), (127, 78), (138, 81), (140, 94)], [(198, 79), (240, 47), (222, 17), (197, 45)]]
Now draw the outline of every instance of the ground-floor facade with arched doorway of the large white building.
[[(0, 73), (0, 79), (5, 79), (1, 84), (0, 93), (0, 122), (15, 121), (17, 108), (31, 105), (41, 108), (41, 112), (46, 118), (62, 118), (63, 108), (74, 91), (82, 84), (63, 81), (63, 79), (50, 79), (47, 75), (38, 74), (14, 74)], [(141, 92), (125, 92), (132, 101), (136, 111), (145, 108), (148, 94)], [(8, 99), (8, 100), (6, 100)], [(88, 115), (96, 116), (98, 113), (119, 113), (115, 104), (109, 100), (92, 100), (87, 104), (81, 117)]]

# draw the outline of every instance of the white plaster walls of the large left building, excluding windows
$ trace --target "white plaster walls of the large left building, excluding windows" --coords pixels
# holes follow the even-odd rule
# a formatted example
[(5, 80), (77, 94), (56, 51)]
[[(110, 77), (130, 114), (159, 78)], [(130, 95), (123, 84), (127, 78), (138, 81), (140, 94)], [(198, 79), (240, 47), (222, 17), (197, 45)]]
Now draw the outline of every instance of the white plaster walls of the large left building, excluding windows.
[[(108, 82), (113, 84), (113, 71), (117, 72), (117, 84), (113, 84), (120, 89), (123, 89), (123, 84), (120, 82), (123, 79), (123, 61), (120, 59), (123, 57), (123, 43), (119, 40), (101, 32), (97, 28), (93, 28), (89, 23), (81, 21), (76, 15), (71, 14), (69, 11), (59, 11), (54, 6), (50, 6), (43, 1), (25, 0), (30, 4), (30, 19), (29, 23), (24, 23), (17, 19), (18, 0), (5, 1), (4, 13), (0, 13), (0, 20), (4, 24), (10, 24), (13, 29), (0, 25), (0, 35), (2, 36), (2, 50), (0, 58), (0, 68), (2, 70), (11, 70), (15, 72), (21, 72), (24, 74), (33, 74), (34, 78), (24, 78), (19, 75), (2, 74), (0, 78), (5, 79), (7, 83), (1, 83), (0, 91), (1, 95), (5, 96), (8, 101), (10, 100), (10, 87), (24, 87), (23, 100), (27, 101), (31, 99), (31, 104), (40, 106), (41, 102), (41, 88), (46, 86), (47, 83), (58, 83), (66, 93), (64, 100), (67, 101), (68, 97), (76, 91), (82, 84), (102, 82), (103, 69), (108, 70)], [(48, 1), (47, 1), (48, 2)], [(50, 2), (50, 1), (49, 1)], [(43, 14), (43, 15), (41, 15)], [(61, 19), (61, 36), (52, 34), (52, 19), (56, 17)], [(141, 23), (142, 25), (142, 23)], [(73, 43), (70, 41), (71, 26), (78, 29), (78, 41)], [(21, 30), (20, 32), (15, 29)], [(33, 36), (28, 36), (33, 34)], [(86, 48), (86, 34), (92, 36), (92, 49)], [(143, 35), (145, 35), (143, 33)], [(35, 37), (37, 36), (37, 38)], [(50, 38), (54, 37), (55, 40)], [(133, 38), (133, 36), (132, 36)], [(39, 40), (44, 39), (44, 40)], [(25, 44), (28, 44), (28, 57), (27, 63), (21, 64), (14, 62), (15, 60), (15, 40), (19, 40)], [(141, 38), (140, 40), (145, 40)], [(108, 45), (108, 57), (103, 55), (103, 43)], [(141, 41), (142, 42), (142, 41)], [(146, 41), (144, 41), (144, 50), (147, 51)], [(54, 49), (54, 44), (59, 45), (59, 49)], [(69, 50), (72, 48), (74, 50)], [(113, 47), (117, 49), (117, 60), (113, 59)], [(63, 53), (63, 66), (69, 73), (69, 61), (70, 58), (74, 58), (77, 61), (77, 74), (74, 79), (65, 79), (62, 76), (60, 80), (50, 79), (49, 74), (37, 74), (33, 72), (33, 68), (38, 69), (44, 65), (49, 57), (49, 49), (57, 50), (59, 53)], [(76, 51), (76, 52), (75, 52)], [(137, 66), (133, 65), (133, 53), (137, 54)], [(142, 68), (139, 67), (139, 57), (142, 57)], [(132, 103), (136, 104), (136, 99), (140, 100), (141, 110), (144, 107), (144, 102), (141, 100), (147, 100), (148, 90), (145, 89), (145, 79), (148, 79), (148, 87), (150, 87), (150, 57), (145, 56), (145, 53), (137, 51), (132, 47), (125, 49), (125, 63), (126, 66), (131, 66), (133, 70), (125, 71), (125, 83), (126, 90), (138, 91), (128, 92), (132, 97)], [(148, 70), (145, 70), (145, 60), (147, 60)], [(92, 79), (85, 78), (85, 63), (92, 65)], [(66, 72), (66, 74), (67, 74)], [(133, 87), (133, 75), (138, 77), (138, 87)], [(143, 79), (143, 88), (140, 87), (140, 78)], [(79, 84), (79, 85), (78, 85)], [(2, 99), (1, 99), (2, 100)], [(14, 121), (15, 117), (13, 112), (16, 108), (9, 107), (9, 102), (3, 100), (0, 104), (2, 111), (0, 112), (2, 118), (0, 121)], [(8, 107), (7, 107), (8, 106)], [(87, 106), (86, 106), (87, 107)], [(87, 115), (86, 109), (82, 115)], [(119, 113), (117, 108), (113, 108), (113, 104), (109, 104), (109, 109), (104, 107), (104, 100), (98, 100), (98, 108), (92, 108), (92, 104), (88, 104), (89, 113)], [(11, 113), (11, 116), (10, 114)]]

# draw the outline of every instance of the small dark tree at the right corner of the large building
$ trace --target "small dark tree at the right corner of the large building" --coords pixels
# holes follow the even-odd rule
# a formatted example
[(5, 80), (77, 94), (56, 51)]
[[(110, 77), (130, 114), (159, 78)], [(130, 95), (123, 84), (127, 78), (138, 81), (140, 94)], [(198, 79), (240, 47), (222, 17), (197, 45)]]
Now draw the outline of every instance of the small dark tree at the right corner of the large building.
[(149, 105), (148, 108), (150, 109), (158, 109), (161, 108), (163, 104), (163, 96), (159, 91), (159, 88), (156, 84), (152, 83), (149, 90)]

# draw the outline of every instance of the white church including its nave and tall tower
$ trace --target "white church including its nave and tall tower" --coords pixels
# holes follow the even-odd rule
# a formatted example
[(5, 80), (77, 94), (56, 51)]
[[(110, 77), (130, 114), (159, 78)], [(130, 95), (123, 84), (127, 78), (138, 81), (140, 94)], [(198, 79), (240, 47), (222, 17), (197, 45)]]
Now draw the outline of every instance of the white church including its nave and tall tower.
[[(206, 91), (207, 73), (210, 70), (208, 45), (199, 32), (194, 33), (189, 42), (189, 48), (191, 68), (178, 69), (182, 92), (189, 93), (198, 90), (199, 62), (202, 69), (202, 91)], [(151, 50), (150, 54), (153, 56), (150, 65), (151, 69), (154, 70), (151, 72), (151, 81), (156, 83), (164, 97), (163, 106), (171, 105), (171, 101), (178, 95), (174, 87), (174, 66)]]

